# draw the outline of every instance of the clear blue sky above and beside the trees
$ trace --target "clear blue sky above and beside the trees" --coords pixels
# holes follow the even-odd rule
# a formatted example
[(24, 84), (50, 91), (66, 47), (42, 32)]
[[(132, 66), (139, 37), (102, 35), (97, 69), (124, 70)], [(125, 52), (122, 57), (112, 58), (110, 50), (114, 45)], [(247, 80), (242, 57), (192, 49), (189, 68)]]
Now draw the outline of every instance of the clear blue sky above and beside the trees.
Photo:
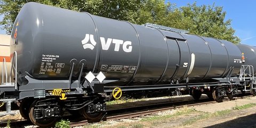
[[(254, 0), (166, 0), (177, 4), (177, 7), (186, 6), (188, 3), (197, 5), (212, 5), (222, 6), (223, 11), (226, 11), (226, 19), (231, 19), (231, 27), (236, 30), (235, 35), (241, 39), (242, 44), (256, 46), (256, 15)], [(3, 16), (0, 15), (0, 20)], [(0, 34), (5, 34), (5, 30), (0, 30)]]

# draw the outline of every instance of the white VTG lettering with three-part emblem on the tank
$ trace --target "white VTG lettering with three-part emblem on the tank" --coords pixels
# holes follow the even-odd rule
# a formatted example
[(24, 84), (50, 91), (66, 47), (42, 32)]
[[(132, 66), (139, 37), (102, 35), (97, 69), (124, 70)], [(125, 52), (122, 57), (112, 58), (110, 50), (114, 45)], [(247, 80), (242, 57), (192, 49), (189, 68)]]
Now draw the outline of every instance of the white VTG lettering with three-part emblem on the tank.
[[(88, 43), (90, 40), (91, 44)], [(100, 43), (102, 46), (102, 50), (108, 50), (109, 46), (111, 45), (111, 43), (115, 44), (115, 50), (114, 51), (119, 51), (120, 45), (123, 45), (123, 51), (124, 52), (132, 52), (132, 42), (130, 41), (123, 41), (121, 39), (112, 39), (112, 38), (108, 38), (107, 42), (106, 39), (104, 37), (100, 37)], [(92, 34), (86, 34), (85, 38), (82, 40), (82, 44), (84, 49), (94, 49), (94, 46), (97, 44), (94, 41), (93, 35)]]

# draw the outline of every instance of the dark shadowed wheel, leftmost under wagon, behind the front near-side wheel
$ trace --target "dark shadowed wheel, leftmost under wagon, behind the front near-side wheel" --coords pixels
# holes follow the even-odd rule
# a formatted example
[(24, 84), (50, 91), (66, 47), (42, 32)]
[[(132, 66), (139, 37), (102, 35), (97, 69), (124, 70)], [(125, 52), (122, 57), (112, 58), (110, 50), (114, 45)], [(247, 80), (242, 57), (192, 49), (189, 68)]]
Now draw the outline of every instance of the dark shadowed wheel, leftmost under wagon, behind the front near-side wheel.
[(29, 99), (24, 99), (20, 102), (20, 115), (25, 118), (25, 119), (29, 119), (29, 108), (31, 105), (31, 101), (29, 101)]

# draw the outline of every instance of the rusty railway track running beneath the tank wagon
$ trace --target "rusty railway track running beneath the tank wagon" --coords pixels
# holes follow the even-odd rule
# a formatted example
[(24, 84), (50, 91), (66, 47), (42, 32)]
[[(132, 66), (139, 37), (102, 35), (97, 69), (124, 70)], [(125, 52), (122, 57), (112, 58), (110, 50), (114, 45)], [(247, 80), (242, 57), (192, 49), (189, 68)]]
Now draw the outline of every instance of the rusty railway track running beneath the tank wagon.
[[(248, 97), (252, 97), (252, 95), (245, 95), (243, 97), (237, 97), (236, 99), (243, 99), (243, 98), (248, 98)], [(184, 98), (182, 101), (180, 101), (178, 98), (176, 98), (175, 101), (172, 101), (172, 102), (162, 102), (162, 103), (154, 103), (151, 105), (110, 109), (110, 110), (107, 110), (107, 114), (105, 115), (104, 118), (102, 118), (102, 120), (110, 121), (110, 120), (118, 120), (118, 119), (125, 119), (125, 118), (134, 118), (134, 117), (140, 117), (140, 116), (146, 116), (146, 115), (159, 113), (161, 111), (182, 108), (184, 106), (190, 107), (190, 106), (207, 105), (207, 104), (211, 104), (211, 103), (217, 103), (216, 101), (212, 101), (211, 99), (206, 98), (206, 97), (203, 97), (197, 101), (191, 99), (190, 97), (188, 97), (188, 100), (185, 100), (185, 99), (186, 98)], [(223, 100), (223, 102), (227, 102), (227, 101), (229, 101), (229, 100), (228, 99)], [(159, 107), (161, 107), (161, 108), (159, 108)], [(88, 122), (84, 117), (77, 118), (75, 116), (66, 116), (66, 117), (63, 117), (63, 119), (69, 119), (71, 127), (81, 126), (81, 125), (91, 123), (91, 122)], [(31, 122), (27, 121), (27, 120), (11, 122), (11, 126), (13, 126), (13, 127), (21, 127), (21, 126), (29, 125), (29, 124), (31, 124)], [(6, 122), (0, 122), (0, 127), (4, 127), (6, 125), (7, 125)], [(33, 125), (33, 124), (31, 124), (31, 125)]]

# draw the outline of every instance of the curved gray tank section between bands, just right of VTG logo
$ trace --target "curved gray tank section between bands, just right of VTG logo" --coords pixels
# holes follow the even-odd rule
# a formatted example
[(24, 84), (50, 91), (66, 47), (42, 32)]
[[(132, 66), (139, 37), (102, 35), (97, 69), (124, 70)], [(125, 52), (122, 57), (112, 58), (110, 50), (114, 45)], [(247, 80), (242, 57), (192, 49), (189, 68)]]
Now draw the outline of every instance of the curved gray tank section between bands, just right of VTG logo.
[(165, 37), (154, 28), (136, 25), (135, 29), (140, 38), (141, 57), (134, 82), (157, 82), (169, 61)]

